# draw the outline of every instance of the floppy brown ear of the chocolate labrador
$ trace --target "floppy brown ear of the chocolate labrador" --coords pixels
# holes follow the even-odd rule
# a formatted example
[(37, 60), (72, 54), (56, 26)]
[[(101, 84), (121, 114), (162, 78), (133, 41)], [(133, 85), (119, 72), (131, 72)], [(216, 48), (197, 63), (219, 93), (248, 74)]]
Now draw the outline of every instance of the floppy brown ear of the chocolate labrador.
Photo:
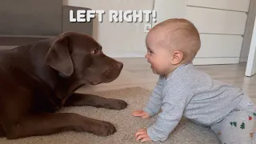
[(61, 36), (54, 41), (46, 54), (46, 64), (66, 77), (74, 72), (74, 65), (70, 57), (70, 46), (70, 38)]

